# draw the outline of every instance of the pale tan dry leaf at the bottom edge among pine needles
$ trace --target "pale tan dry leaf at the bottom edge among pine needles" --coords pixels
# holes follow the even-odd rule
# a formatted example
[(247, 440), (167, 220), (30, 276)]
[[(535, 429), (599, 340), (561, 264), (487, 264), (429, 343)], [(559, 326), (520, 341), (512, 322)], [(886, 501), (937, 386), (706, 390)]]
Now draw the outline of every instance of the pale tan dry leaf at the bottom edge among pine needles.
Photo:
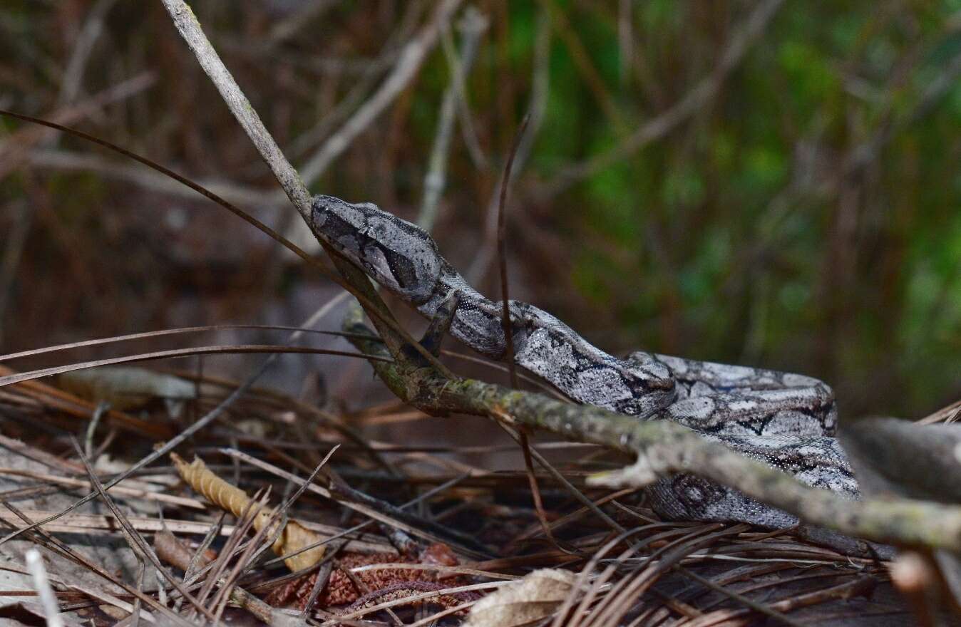
[(578, 575), (541, 568), (474, 604), (464, 627), (519, 627), (554, 614), (574, 590)]

